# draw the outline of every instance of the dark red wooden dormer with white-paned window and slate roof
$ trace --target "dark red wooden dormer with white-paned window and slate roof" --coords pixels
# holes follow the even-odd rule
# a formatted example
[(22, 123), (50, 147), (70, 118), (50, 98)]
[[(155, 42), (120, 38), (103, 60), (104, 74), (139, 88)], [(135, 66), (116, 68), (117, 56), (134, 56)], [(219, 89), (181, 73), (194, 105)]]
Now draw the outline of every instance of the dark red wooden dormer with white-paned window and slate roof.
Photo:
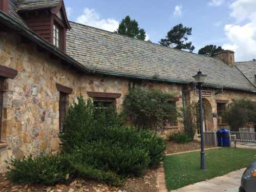
[(63, 1), (20, 0), (16, 2), (18, 2), (16, 11), (24, 18), (28, 27), (59, 50), (66, 52), (66, 33), (71, 26)]

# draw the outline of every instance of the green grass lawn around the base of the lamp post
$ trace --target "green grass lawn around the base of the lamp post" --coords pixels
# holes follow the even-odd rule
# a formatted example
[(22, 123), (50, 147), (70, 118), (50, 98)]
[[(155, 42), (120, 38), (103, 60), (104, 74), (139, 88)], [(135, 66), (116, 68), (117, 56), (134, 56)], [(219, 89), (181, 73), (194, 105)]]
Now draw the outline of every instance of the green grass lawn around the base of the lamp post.
[(200, 170), (200, 152), (166, 156), (164, 172), (168, 190), (222, 176), (256, 161), (256, 150), (228, 147), (205, 153), (206, 172)]

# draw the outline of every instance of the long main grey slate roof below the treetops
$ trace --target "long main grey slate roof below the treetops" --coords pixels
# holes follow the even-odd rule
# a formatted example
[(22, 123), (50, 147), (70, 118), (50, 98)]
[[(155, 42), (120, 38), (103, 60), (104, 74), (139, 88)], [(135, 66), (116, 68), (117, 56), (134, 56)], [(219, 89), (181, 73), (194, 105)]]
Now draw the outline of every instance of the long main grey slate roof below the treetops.
[(67, 54), (90, 70), (168, 81), (191, 82), (198, 70), (206, 84), (255, 90), (237, 67), (186, 51), (163, 47), (101, 29), (70, 22)]

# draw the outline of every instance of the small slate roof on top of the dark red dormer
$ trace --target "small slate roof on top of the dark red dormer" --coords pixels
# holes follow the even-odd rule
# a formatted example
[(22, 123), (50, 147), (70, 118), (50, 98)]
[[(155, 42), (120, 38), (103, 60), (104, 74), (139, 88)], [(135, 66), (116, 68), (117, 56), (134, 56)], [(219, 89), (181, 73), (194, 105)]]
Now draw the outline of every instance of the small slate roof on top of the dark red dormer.
[(18, 0), (17, 10), (28, 11), (35, 9), (55, 8), (60, 0)]

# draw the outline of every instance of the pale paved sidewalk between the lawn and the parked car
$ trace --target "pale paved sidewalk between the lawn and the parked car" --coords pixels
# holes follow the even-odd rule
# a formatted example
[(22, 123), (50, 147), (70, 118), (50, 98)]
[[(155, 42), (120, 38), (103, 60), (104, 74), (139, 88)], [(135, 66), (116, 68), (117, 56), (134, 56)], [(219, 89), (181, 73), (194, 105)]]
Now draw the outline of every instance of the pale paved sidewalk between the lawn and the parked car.
[(238, 192), (245, 168), (207, 181), (188, 185), (172, 192)]

